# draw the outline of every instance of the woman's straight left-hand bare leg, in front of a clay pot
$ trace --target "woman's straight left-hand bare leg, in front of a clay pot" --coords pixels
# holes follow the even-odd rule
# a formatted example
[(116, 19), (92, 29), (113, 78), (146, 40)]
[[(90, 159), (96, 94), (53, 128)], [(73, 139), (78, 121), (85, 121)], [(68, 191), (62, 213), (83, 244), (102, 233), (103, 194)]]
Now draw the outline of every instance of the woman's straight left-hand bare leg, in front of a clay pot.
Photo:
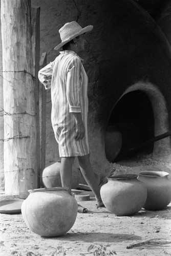
[(75, 157), (62, 157), (60, 165), (60, 178), (62, 187), (68, 187), (68, 193), (71, 195), (72, 186), (72, 165)]

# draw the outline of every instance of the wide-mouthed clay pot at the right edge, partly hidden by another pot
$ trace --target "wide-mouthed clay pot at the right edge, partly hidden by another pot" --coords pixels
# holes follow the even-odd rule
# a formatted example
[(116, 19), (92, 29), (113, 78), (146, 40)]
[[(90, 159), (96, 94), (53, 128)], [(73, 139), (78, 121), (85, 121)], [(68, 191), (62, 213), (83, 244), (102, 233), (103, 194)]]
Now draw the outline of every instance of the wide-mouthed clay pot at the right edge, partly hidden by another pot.
[(171, 181), (168, 173), (161, 171), (140, 172), (138, 180), (147, 186), (147, 199), (143, 207), (147, 210), (160, 210), (171, 201)]

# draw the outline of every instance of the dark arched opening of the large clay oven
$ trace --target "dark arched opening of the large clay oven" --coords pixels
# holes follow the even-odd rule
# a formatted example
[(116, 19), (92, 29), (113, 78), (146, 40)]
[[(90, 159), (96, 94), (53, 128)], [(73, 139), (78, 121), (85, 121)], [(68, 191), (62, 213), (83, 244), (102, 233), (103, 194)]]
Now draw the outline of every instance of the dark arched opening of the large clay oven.
[[(112, 134), (115, 139), (109, 139)], [(117, 102), (109, 119), (107, 137), (105, 152), (110, 162), (115, 162), (118, 157), (129, 153), (130, 149), (138, 148), (143, 142), (154, 137), (153, 108), (144, 92), (137, 90), (127, 93)], [(148, 144), (143, 151), (149, 154), (153, 152), (153, 147), (154, 143)], [(115, 154), (112, 153), (113, 148), (117, 151)]]

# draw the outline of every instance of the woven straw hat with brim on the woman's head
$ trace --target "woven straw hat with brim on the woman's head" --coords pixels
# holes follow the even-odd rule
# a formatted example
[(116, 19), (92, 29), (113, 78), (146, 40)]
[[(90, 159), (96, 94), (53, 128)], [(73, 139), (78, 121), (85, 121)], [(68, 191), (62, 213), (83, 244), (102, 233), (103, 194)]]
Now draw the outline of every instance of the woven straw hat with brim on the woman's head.
[(92, 31), (92, 29), (92, 25), (82, 28), (77, 22), (66, 23), (63, 27), (59, 29), (61, 42), (54, 49), (59, 50), (62, 46), (67, 44), (67, 42), (71, 41), (76, 36), (88, 33)]

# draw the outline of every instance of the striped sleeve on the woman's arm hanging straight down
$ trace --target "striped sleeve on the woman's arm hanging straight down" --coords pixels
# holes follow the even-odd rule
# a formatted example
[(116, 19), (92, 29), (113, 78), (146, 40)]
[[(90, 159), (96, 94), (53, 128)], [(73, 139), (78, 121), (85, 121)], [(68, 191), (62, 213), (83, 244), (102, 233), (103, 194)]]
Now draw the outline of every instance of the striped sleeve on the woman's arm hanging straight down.
[(67, 100), (70, 112), (81, 112), (80, 87), (81, 87), (81, 61), (74, 58), (67, 74)]

